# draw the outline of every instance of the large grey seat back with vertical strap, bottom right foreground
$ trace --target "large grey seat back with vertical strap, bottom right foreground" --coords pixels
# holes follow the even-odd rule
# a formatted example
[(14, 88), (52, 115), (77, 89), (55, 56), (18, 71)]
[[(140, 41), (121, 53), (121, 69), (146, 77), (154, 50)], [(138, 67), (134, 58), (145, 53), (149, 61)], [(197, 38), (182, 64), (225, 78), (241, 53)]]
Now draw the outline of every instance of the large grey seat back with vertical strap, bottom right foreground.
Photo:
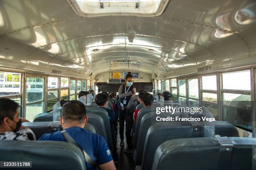
[(157, 148), (151, 170), (251, 170), (255, 145), (255, 138), (168, 140)]

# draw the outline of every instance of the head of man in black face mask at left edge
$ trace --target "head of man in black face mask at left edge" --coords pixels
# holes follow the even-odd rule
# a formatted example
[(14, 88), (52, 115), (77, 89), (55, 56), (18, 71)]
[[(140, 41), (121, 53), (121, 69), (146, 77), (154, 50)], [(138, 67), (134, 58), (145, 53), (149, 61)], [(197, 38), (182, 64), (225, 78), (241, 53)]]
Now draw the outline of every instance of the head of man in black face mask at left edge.
[(17, 132), (21, 127), (18, 103), (8, 98), (0, 99), (0, 127), (8, 132)]

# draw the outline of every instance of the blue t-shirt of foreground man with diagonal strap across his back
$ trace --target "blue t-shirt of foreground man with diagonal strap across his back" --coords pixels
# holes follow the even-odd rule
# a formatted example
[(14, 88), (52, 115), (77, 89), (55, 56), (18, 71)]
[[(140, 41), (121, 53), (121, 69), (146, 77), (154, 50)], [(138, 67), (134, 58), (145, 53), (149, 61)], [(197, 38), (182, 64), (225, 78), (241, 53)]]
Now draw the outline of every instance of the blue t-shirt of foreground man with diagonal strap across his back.
[[(113, 160), (105, 139), (95, 133), (88, 132), (80, 127), (65, 129), (67, 133), (77, 142), (77, 144), (90, 155), (97, 165), (108, 163)], [(46, 133), (38, 140), (66, 141), (61, 132)], [(95, 167), (86, 163), (87, 170), (95, 170)]]

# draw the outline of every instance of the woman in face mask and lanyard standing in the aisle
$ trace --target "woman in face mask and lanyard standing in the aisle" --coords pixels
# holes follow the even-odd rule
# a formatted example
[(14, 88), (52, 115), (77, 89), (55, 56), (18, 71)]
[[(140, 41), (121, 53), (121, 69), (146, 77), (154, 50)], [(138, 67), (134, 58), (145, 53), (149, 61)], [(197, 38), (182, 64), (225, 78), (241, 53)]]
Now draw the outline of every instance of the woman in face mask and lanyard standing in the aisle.
[[(125, 122), (125, 138), (126, 143), (128, 146), (128, 151), (131, 151), (133, 146), (131, 142), (131, 129), (133, 127), (133, 115), (129, 114), (126, 110), (126, 106), (128, 105), (128, 102), (131, 99), (131, 95), (136, 94), (136, 88), (132, 85), (133, 84), (133, 75), (131, 72), (128, 72), (125, 76), (125, 85), (120, 85), (118, 90), (118, 97), (119, 97), (119, 103), (118, 103), (118, 114), (119, 114), (119, 133), (120, 133), (120, 146), (124, 146), (124, 122)], [(121, 107), (121, 104), (123, 104), (123, 107)], [(126, 149), (127, 150), (127, 149)]]

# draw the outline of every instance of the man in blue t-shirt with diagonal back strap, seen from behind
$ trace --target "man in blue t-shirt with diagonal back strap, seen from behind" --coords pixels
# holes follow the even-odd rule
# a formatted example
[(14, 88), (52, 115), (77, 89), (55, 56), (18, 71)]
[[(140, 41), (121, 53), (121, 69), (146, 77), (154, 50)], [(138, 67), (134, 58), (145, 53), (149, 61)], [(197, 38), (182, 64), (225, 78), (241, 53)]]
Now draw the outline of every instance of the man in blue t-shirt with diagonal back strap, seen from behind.
[[(60, 123), (74, 141), (97, 163), (101, 170), (115, 170), (115, 165), (105, 139), (84, 129), (88, 117), (85, 105), (77, 100), (66, 102), (62, 107)], [(39, 140), (66, 141), (60, 131), (44, 134)], [(87, 170), (96, 167), (86, 163)]]

